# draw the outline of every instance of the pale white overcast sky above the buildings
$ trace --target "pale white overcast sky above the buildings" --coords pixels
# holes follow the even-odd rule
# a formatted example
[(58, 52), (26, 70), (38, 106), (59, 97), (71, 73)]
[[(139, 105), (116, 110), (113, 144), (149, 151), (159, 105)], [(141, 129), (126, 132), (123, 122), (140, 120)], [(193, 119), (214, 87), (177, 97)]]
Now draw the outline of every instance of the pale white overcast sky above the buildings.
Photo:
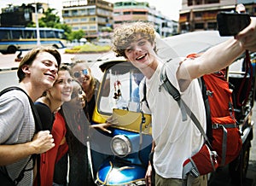
[[(67, 0), (64, 0), (67, 1)], [(120, 0), (107, 0), (108, 2), (115, 3)], [(50, 8), (58, 9), (61, 12), (62, 0), (0, 0), (0, 7), (5, 8), (7, 4), (13, 3), (21, 5), (21, 3), (49, 3)], [(182, 0), (137, 0), (137, 2), (148, 2), (150, 6), (154, 6), (163, 15), (166, 15), (171, 20), (178, 20), (179, 9), (181, 9)]]

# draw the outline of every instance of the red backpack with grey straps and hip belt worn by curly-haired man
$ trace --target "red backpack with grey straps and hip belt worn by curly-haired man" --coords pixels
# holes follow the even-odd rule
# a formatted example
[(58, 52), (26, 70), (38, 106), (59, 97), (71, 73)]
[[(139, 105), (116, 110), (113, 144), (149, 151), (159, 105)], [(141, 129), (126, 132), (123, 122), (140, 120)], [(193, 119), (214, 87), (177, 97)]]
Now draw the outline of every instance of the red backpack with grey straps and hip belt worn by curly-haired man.
[[(195, 58), (199, 55), (188, 55)], [(199, 78), (202, 96), (207, 113), (207, 133), (202, 129), (195, 114), (183, 102), (179, 91), (166, 76), (165, 66), (160, 73), (162, 86), (177, 101), (181, 108), (183, 119), (187, 115), (194, 121), (196, 127), (205, 138), (201, 150), (183, 163), (183, 178), (188, 174), (194, 177), (215, 171), (218, 166), (225, 166), (239, 155), (242, 142), (241, 133), (236, 123), (233, 110), (232, 90), (225, 78), (225, 69), (217, 73), (206, 74)], [(145, 94), (144, 94), (145, 96)], [(143, 98), (145, 100), (145, 98)]]

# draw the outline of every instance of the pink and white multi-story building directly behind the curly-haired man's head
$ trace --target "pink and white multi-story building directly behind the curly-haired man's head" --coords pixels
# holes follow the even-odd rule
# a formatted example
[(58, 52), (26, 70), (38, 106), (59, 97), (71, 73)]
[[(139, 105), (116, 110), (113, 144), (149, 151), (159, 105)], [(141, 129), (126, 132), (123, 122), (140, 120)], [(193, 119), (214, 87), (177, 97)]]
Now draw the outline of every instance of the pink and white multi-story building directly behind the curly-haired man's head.
[(177, 22), (168, 19), (154, 7), (150, 7), (148, 2), (130, 0), (113, 4), (113, 27), (119, 26), (124, 21), (132, 20), (153, 22), (155, 30), (163, 37), (177, 34)]

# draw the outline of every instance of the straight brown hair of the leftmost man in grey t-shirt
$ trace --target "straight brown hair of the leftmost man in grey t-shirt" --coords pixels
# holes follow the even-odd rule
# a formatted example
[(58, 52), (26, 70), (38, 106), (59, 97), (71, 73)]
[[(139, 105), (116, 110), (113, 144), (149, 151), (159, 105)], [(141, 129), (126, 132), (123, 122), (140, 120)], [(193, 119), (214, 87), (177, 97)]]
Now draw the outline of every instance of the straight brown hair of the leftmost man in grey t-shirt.
[(19, 78), (19, 82), (21, 82), (25, 78), (25, 73), (22, 71), (22, 67), (24, 65), (32, 65), (32, 62), (36, 59), (37, 55), (41, 52), (48, 52), (49, 54), (53, 55), (58, 63), (58, 67), (61, 65), (61, 55), (57, 49), (53, 48), (44, 48), (44, 47), (37, 47), (29, 51), (23, 59), (20, 61), (20, 66), (18, 67), (17, 75)]

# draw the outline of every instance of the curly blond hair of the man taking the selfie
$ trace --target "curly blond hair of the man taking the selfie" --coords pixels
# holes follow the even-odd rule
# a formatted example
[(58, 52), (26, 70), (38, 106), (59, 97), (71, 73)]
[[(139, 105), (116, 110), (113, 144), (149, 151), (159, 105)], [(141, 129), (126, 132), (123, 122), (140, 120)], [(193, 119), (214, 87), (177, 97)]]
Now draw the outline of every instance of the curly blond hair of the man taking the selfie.
[(113, 32), (113, 52), (116, 56), (125, 56), (125, 49), (132, 42), (135, 42), (137, 36), (146, 38), (151, 44), (155, 42), (154, 25), (150, 22), (130, 22), (116, 27)]

